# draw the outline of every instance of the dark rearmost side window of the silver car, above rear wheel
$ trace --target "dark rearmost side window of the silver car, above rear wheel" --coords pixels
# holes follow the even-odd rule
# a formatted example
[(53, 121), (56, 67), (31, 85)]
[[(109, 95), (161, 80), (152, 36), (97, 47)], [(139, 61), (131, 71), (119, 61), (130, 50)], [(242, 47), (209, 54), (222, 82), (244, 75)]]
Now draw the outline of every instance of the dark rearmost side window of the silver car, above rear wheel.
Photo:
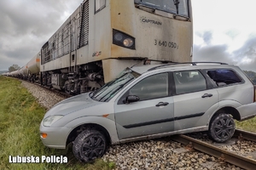
[(210, 80), (218, 87), (242, 82), (241, 78), (236, 75), (235, 71), (227, 69), (207, 71), (207, 76), (210, 77)]

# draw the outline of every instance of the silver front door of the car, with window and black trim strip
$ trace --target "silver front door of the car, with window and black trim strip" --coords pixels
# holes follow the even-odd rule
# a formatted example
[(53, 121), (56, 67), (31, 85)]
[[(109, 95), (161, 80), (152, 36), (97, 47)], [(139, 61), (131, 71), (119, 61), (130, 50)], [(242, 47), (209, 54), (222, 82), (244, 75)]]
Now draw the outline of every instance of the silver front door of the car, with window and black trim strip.
[[(173, 130), (173, 97), (169, 81), (168, 72), (149, 76), (121, 95), (114, 106), (119, 139)], [(127, 96), (137, 96), (139, 99), (123, 103)]]

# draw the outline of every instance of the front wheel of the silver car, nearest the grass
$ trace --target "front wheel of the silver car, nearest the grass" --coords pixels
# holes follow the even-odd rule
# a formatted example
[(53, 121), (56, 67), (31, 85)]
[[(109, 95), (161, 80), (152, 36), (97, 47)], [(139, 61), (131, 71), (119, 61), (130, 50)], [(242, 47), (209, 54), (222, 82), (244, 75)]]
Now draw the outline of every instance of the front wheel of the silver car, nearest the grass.
[(90, 162), (101, 157), (107, 150), (105, 136), (95, 130), (86, 129), (73, 141), (73, 155), (79, 160)]

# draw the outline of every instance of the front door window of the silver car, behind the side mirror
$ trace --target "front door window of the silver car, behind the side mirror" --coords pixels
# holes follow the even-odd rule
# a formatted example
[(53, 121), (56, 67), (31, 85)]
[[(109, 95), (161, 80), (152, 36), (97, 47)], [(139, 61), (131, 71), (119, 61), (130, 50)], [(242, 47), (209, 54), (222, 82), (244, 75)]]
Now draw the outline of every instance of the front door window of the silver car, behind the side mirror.
[(133, 86), (128, 94), (138, 96), (140, 101), (168, 96), (168, 73), (144, 78)]

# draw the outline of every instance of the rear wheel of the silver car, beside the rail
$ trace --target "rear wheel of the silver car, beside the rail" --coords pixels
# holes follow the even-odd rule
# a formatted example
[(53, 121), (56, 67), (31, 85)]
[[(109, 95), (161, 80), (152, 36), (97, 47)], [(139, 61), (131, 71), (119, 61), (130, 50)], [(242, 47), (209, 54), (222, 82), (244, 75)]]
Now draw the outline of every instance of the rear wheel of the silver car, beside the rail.
[(234, 119), (226, 114), (220, 113), (212, 117), (209, 127), (209, 137), (218, 143), (224, 143), (232, 138), (236, 130)]

